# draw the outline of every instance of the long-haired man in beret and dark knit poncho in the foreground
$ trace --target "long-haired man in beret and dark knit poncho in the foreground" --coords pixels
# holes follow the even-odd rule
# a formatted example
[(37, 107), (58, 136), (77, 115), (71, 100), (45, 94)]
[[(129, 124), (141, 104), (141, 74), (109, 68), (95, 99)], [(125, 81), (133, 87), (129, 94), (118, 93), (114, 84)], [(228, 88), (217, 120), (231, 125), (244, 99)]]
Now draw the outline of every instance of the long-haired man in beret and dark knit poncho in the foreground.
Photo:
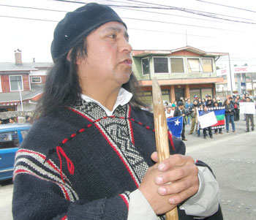
[[(206, 164), (181, 154), (155, 164), (154, 120), (140, 108), (131, 52), (108, 6), (86, 4), (56, 26), (39, 119), (16, 154), (14, 219), (153, 220), (177, 205), (180, 220), (222, 219)], [(184, 153), (171, 140), (171, 152)]]

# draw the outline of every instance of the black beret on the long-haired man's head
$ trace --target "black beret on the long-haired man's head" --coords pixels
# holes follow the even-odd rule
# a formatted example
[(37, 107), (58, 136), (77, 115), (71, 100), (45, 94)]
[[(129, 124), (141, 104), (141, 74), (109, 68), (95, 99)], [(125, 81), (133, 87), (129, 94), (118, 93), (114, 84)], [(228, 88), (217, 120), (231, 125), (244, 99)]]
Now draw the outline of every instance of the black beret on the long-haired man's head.
[(89, 3), (74, 12), (67, 12), (57, 24), (53, 35), (50, 53), (53, 61), (69, 52), (80, 37), (86, 37), (102, 24), (117, 21), (126, 24), (110, 7), (97, 3)]

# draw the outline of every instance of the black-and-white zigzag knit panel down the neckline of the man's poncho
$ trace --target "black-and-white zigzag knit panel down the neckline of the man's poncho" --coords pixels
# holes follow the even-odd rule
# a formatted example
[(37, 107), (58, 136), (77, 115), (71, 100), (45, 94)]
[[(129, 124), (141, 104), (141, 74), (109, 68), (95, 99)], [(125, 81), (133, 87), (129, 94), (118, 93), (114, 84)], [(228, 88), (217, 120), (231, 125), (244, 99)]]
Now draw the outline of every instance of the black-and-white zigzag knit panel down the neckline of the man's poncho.
[[(102, 107), (94, 102), (86, 102), (84, 100), (75, 107), (75, 110), (86, 115), (91, 121), (107, 116)], [(119, 149), (122, 158), (133, 170), (137, 184), (140, 185), (146, 170), (148, 170), (148, 164), (146, 164), (143, 156), (140, 155), (138, 148), (133, 143), (132, 126), (128, 119), (129, 111), (129, 105), (119, 105), (113, 112), (115, 118), (104, 118), (95, 122), (95, 124), (100, 126), (105, 136)]]

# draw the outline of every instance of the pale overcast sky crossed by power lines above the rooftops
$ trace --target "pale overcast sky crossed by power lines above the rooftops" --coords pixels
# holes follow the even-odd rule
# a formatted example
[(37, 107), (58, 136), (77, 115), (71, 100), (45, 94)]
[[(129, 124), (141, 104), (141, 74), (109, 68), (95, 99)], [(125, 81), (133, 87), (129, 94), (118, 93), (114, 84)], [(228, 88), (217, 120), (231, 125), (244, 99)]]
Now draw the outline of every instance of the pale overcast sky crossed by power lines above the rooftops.
[[(81, 2), (89, 1), (84, 0)], [(126, 0), (97, 0), (94, 2), (122, 6), (142, 5), (142, 3)], [(147, 8), (129, 8), (130, 10), (125, 10), (113, 7), (124, 22), (127, 23), (130, 43), (133, 49), (172, 50), (190, 45), (206, 52), (230, 53), (233, 64), (242, 65), (247, 63), (256, 65), (255, 0), (140, 0), (140, 2), (211, 12), (214, 13), (211, 15), (247, 23), (208, 18), (182, 12), (181, 10), (153, 10)], [(214, 2), (215, 4), (209, 4), (209, 2)], [(3, 6), (3, 4), (19, 7), (7, 7)], [(147, 4), (146, 6), (162, 7), (152, 4)], [(50, 43), (53, 39), (53, 30), (57, 24), (55, 21), (61, 20), (66, 12), (50, 10), (72, 11), (82, 5), (53, 0), (0, 0), (0, 62), (13, 62), (14, 50), (17, 48), (22, 50), (24, 62), (31, 62), (33, 58), (36, 61), (51, 61)], [(24, 7), (48, 10), (35, 10)], [(238, 10), (233, 7), (244, 10)], [(227, 57), (223, 58), (222, 61), (225, 64)]]

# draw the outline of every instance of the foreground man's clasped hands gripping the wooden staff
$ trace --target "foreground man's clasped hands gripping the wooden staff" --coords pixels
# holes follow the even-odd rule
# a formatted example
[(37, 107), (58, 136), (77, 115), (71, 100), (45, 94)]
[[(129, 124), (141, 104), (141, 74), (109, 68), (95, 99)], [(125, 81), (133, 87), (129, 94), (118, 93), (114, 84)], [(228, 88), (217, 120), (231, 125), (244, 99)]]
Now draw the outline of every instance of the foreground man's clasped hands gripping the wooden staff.
[[(157, 152), (152, 153), (151, 159), (158, 162)], [(194, 160), (180, 154), (171, 155), (162, 163), (149, 167), (139, 187), (156, 214), (172, 210), (192, 197), (198, 188)]]

